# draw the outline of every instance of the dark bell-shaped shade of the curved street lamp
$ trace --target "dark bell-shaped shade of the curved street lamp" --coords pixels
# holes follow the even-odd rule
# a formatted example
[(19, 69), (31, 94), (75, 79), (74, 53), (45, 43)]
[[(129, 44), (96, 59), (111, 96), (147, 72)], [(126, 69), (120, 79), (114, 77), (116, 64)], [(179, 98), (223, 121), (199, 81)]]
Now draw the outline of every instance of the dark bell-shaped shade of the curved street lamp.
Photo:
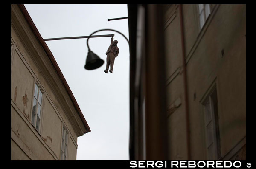
[(93, 70), (101, 67), (103, 63), (104, 60), (100, 59), (98, 55), (94, 54), (92, 51), (88, 51), (84, 68), (87, 70)]

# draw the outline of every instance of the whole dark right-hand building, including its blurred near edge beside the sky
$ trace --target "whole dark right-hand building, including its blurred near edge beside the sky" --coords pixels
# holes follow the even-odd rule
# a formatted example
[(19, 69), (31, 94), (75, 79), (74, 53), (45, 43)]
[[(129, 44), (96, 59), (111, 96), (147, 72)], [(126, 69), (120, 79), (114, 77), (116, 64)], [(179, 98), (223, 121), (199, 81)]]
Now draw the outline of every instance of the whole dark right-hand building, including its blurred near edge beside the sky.
[(130, 159), (246, 159), (246, 5), (131, 4)]

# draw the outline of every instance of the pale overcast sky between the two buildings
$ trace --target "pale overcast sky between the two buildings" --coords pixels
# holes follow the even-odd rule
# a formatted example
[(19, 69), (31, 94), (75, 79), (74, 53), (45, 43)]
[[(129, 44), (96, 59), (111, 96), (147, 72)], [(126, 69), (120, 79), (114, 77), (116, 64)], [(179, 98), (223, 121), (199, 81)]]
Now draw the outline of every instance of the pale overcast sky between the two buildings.
[[(43, 39), (88, 36), (115, 29), (128, 39), (127, 5), (25, 5)], [(90, 38), (90, 49), (103, 59), (96, 70), (85, 70), (87, 39), (46, 41), (91, 132), (78, 137), (77, 160), (129, 160), (129, 45), (114, 31), (120, 48), (113, 73), (104, 73), (111, 37)]]

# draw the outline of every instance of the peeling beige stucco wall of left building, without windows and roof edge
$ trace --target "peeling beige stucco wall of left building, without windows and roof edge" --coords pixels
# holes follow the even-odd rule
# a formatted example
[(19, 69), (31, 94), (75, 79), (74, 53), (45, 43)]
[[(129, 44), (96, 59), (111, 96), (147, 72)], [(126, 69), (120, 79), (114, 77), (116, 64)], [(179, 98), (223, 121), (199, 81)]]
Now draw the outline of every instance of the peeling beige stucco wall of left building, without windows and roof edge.
[[(53, 83), (52, 78), (57, 74), (17, 5), (12, 5), (11, 37), (12, 159), (60, 159), (62, 128), (65, 125), (70, 143), (68, 159), (75, 160), (78, 136), (70, 117), (67, 117), (70, 110), (63, 105), (70, 106), (71, 111), (75, 108), (61, 100), (64, 96), (60, 98), (59, 93), (63, 93), (63, 86), (59, 88)], [(31, 124), (35, 82), (44, 92), (39, 131)]]

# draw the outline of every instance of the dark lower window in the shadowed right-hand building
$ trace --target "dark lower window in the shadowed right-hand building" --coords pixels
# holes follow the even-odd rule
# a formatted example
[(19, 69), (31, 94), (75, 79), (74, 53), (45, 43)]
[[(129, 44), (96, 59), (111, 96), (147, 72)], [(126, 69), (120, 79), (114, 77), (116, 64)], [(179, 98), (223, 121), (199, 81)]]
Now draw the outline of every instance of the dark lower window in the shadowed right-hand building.
[(220, 135), (218, 127), (218, 100), (216, 88), (204, 103), (206, 146), (209, 160), (221, 158)]

